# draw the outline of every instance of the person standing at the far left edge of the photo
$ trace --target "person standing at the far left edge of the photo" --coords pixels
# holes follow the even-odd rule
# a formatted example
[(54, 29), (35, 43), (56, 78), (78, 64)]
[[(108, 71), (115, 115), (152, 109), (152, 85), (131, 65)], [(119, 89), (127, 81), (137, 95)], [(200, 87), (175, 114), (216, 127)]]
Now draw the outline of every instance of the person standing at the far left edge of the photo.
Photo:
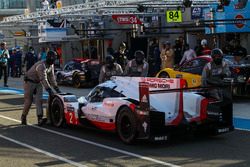
[(2, 42), (0, 44), (0, 78), (4, 75), (4, 87), (8, 87), (8, 59), (10, 58), (10, 54), (8, 49), (6, 48), (6, 42)]

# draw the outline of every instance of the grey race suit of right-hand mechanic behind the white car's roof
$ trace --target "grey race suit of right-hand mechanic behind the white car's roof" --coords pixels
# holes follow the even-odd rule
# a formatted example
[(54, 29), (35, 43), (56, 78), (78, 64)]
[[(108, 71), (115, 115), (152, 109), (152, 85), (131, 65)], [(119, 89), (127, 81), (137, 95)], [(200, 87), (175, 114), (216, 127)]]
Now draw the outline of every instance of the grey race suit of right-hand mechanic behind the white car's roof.
[(130, 77), (147, 77), (148, 75), (148, 63), (143, 61), (142, 64), (138, 65), (136, 60), (133, 59), (128, 62), (124, 74)]

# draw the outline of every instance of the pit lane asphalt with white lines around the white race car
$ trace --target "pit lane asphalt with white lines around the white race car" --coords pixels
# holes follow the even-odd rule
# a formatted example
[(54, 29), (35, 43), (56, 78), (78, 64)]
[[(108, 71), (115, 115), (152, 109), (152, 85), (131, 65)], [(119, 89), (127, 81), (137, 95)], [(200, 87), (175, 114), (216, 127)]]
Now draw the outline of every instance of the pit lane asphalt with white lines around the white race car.
[[(92, 129), (21, 126), (22, 108), (22, 96), (0, 95), (0, 166), (250, 166), (248, 131), (130, 146)], [(28, 121), (36, 124), (34, 106)]]

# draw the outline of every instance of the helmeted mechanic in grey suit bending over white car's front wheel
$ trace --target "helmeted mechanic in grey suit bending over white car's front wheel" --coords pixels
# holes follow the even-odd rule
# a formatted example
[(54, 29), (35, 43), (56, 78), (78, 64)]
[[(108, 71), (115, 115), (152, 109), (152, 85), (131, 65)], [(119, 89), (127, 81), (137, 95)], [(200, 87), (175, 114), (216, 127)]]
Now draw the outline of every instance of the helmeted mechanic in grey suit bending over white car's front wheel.
[(43, 87), (49, 93), (50, 97), (54, 94), (51, 86), (57, 93), (61, 92), (54, 75), (55, 59), (56, 53), (49, 51), (46, 60), (37, 62), (26, 72), (24, 77), (24, 108), (21, 116), (21, 124), (27, 124), (26, 117), (33, 101), (33, 95), (35, 95), (38, 125), (41, 126), (43, 124)]

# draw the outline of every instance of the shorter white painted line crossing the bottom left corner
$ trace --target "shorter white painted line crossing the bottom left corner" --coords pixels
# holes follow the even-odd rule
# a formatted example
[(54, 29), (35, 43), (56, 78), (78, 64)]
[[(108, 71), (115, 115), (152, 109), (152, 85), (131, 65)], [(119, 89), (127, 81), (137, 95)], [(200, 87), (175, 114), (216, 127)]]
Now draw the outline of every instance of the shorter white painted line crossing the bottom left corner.
[(10, 141), (10, 142), (12, 142), (12, 143), (15, 143), (15, 144), (17, 144), (17, 145), (20, 145), (20, 146), (29, 148), (29, 149), (34, 150), (34, 151), (36, 151), (36, 152), (45, 154), (45, 155), (47, 155), (47, 156), (49, 156), (49, 157), (52, 157), (52, 158), (58, 159), (58, 160), (60, 160), (60, 161), (66, 162), (66, 163), (68, 163), (68, 164), (70, 164), (70, 165), (73, 165), (73, 166), (77, 166), (77, 167), (87, 167), (86, 165), (79, 164), (79, 163), (77, 163), (77, 162), (71, 161), (71, 160), (69, 160), (69, 159), (60, 157), (60, 156), (58, 156), (58, 155), (52, 154), (52, 153), (47, 152), (47, 151), (44, 151), (44, 150), (41, 150), (41, 149), (39, 149), (39, 148), (36, 148), (36, 147), (31, 146), (31, 145), (25, 144), (25, 143), (23, 143), (23, 142), (14, 140), (14, 139), (12, 139), (12, 138), (9, 138), (9, 137), (3, 136), (3, 135), (0, 135), (0, 138), (5, 139), (5, 140), (8, 140), (8, 141)]

